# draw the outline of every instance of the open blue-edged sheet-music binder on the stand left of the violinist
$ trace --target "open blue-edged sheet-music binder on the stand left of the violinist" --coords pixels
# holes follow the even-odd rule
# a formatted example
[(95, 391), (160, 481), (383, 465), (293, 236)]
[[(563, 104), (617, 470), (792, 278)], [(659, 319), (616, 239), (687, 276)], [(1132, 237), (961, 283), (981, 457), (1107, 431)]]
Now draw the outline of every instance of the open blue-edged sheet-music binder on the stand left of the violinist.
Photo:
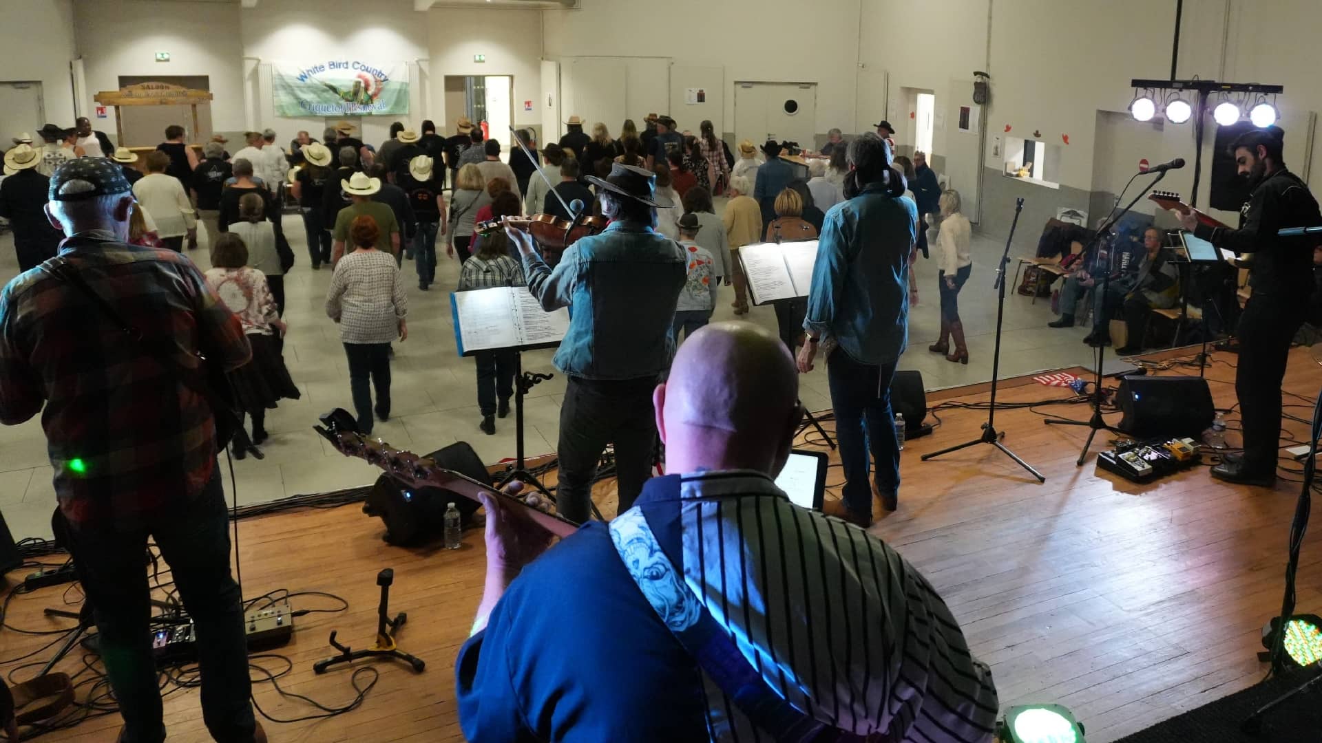
[(459, 356), (506, 348), (546, 348), (570, 329), (566, 308), (546, 312), (527, 287), (451, 292)]

